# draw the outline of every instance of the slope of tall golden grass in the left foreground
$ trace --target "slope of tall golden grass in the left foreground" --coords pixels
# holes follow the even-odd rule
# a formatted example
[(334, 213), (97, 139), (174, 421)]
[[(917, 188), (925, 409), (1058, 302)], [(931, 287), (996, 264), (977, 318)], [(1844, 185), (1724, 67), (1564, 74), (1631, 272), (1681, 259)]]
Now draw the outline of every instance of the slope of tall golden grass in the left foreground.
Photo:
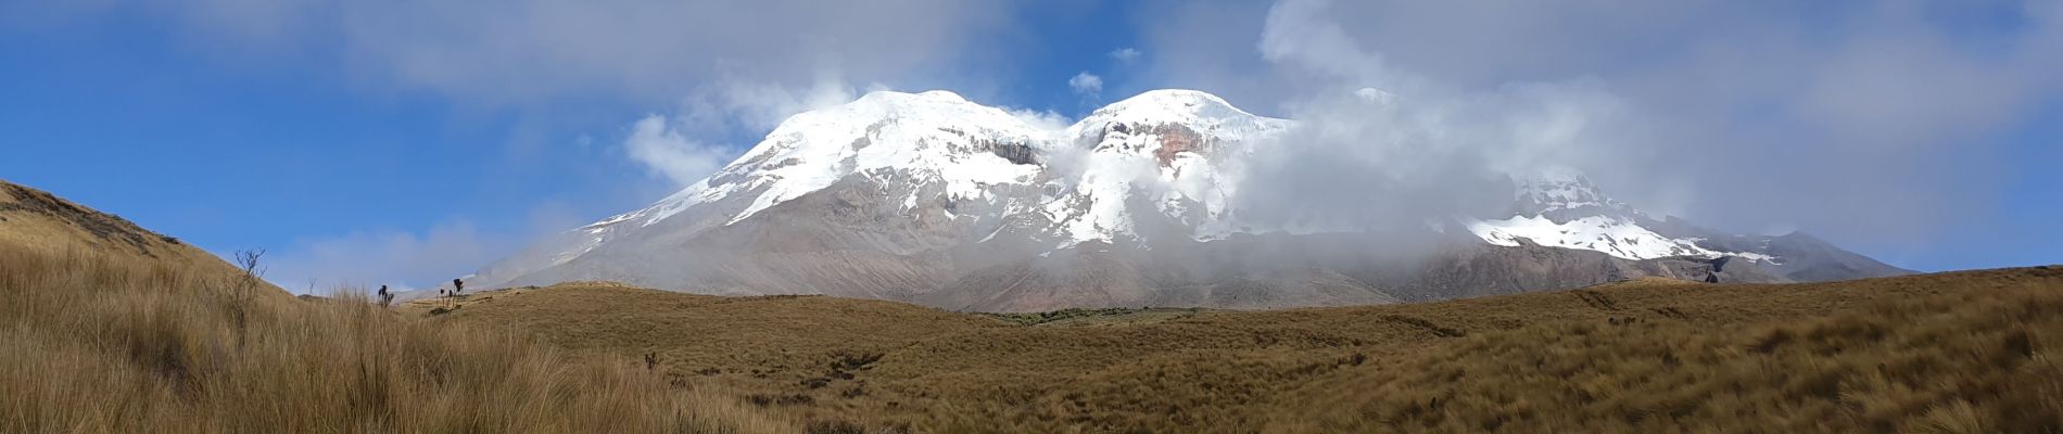
[(221, 269), (0, 243), (0, 432), (794, 430), (633, 360)]

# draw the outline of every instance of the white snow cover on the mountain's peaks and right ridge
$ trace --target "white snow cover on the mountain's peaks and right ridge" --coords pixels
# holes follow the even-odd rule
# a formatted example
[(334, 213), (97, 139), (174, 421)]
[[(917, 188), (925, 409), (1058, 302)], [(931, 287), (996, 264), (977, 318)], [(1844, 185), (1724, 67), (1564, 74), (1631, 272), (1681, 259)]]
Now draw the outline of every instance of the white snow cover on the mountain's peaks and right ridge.
[[(1355, 95), (1376, 103), (1395, 99), (1374, 88)], [(976, 202), (986, 206), (980, 210), (1001, 212), (1001, 218), (1042, 216), (1044, 226), (1032, 230), (1054, 241), (1054, 249), (1091, 241), (1141, 241), (1137, 247), (1149, 249), (1141, 239), (1141, 218), (1182, 224), (1197, 241), (1234, 232), (1353, 230), (1302, 224), (1256, 228), (1240, 222), (1238, 210), (1232, 210), (1242, 162), (1254, 152), (1267, 152), (1267, 146), (1285, 146), (1271, 138), (1294, 125), (1199, 91), (1141, 93), (1065, 128), (1052, 115), (984, 107), (947, 91), (879, 91), (840, 107), (788, 117), (708, 179), (644, 210), (582, 226), (582, 234), (551, 261), (565, 263), (586, 255), (609, 243), (617, 228), (652, 226), (718, 202), (724, 206), (714, 210), (724, 214), (714, 216), (712, 224), (743, 222), (854, 175), (908, 185), (902, 197), (885, 202), (899, 204), (906, 212), (937, 204), (943, 191), (949, 204)], [(1737, 255), (1774, 261), (1760, 253), (1704, 249), (1698, 239), (1663, 237), (1644, 226), (1644, 214), (1605, 197), (1576, 171), (1547, 169), (1514, 177), (1512, 185), (1516, 216), (1461, 218), (1456, 224), (1485, 243), (1508, 247), (1529, 239), (1543, 247), (1589, 249), (1624, 259)], [(984, 218), (945, 208), (949, 220), (963, 216)], [(984, 232), (974, 243), (994, 239), (1003, 226), (984, 226)]]

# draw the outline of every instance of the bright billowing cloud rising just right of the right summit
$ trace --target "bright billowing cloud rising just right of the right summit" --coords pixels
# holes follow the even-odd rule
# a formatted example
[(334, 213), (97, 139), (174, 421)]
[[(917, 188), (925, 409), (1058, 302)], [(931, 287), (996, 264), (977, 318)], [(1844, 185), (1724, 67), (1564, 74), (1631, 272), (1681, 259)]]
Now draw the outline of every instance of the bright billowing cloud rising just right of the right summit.
[(1298, 80), (1298, 128), (1244, 160), (1240, 210), (1271, 224), (1399, 228), (1510, 206), (1504, 173), (1576, 160), (1619, 113), (1591, 82), (1456, 88), (1388, 68), (1324, 2), (1269, 10), (1256, 51)]

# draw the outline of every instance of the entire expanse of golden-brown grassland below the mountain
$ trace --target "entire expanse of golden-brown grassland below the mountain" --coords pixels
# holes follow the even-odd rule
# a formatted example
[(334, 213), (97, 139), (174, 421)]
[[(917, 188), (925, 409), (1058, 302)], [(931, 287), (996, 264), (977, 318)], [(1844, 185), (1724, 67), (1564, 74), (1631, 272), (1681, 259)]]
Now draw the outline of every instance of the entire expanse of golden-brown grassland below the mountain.
[(380, 309), (0, 187), (0, 432), (2063, 430), (2053, 265), (1302, 311), (607, 282)]

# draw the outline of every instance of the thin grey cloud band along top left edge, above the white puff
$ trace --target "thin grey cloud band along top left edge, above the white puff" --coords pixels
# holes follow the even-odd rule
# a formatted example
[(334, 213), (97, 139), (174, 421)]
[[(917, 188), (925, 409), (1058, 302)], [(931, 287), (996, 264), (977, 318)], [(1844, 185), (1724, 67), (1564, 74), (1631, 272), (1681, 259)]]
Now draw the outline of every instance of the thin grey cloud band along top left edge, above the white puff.
[(1017, 31), (1017, 4), (955, 0), (103, 2), (10, 10), (161, 19), (202, 53), (297, 56), (380, 91), (431, 91), (462, 105), (662, 105), (730, 78), (807, 88), (821, 70), (858, 82), (949, 80), (943, 74), (968, 74), (963, 64), (1001, 64), (970, 60), (990, 56), (980, 43)]

